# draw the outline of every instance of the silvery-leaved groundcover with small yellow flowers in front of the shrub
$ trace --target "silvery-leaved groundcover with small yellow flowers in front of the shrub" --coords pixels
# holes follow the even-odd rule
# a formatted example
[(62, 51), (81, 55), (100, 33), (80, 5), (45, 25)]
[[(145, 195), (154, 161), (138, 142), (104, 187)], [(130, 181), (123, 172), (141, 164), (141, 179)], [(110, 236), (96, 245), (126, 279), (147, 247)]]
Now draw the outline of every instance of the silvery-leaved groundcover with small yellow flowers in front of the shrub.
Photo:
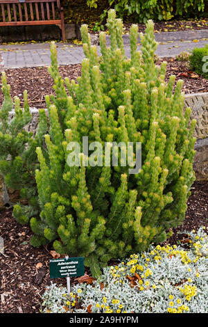
[(73, 285), (70, 298), (66, 288), (52, 283), (42, 312), (208, 312), (207, 245), (205, 228), (189, 233), (188, 250), (182, 244), (152, 245), (103, 269), (91, 285)]

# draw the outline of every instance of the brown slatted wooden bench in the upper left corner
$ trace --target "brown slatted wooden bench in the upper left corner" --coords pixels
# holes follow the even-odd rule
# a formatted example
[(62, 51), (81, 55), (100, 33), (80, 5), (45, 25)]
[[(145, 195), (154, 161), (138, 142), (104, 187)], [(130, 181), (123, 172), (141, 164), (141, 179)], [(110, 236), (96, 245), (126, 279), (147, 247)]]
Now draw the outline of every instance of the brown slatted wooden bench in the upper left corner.
[(65, 41), (60, 0), (0, 0), (0, 26), (58, 25)]

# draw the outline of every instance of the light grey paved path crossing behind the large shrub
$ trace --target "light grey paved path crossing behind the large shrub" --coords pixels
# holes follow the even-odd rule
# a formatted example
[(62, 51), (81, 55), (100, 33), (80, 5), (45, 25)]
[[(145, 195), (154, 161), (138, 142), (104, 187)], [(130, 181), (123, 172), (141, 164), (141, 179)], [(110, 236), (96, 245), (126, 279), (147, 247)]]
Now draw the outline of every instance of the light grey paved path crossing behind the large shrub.
[[(180, 54), (181, 51), (191, 51), (194, 47), (204, 47), (205, 44), (208, 43), (208, 30), (207, 39), (203, 39), (204, 40), (195, 39), (193, 41), (188, 39), (159, 42), (156, 54), (160, 58), (173, 57)], [(80, 45), (73, 45), (71, 43), (56, 43), (56, 45), (59, 65), (81, 63), (83, 58), (85, 58), (83, 47)], [(141, 46), (138, 46), (138, 49), (140, 49), (140, 47)], [(5, 68), (49, 66), (51, 64), (50, 43), (0, 45), (0, 52), (3, 57)], [(100, 54), (99, 47), (98, 54)], [(129, 42), (125, 42), (125, 54), (127, 57), (130, 56)]]

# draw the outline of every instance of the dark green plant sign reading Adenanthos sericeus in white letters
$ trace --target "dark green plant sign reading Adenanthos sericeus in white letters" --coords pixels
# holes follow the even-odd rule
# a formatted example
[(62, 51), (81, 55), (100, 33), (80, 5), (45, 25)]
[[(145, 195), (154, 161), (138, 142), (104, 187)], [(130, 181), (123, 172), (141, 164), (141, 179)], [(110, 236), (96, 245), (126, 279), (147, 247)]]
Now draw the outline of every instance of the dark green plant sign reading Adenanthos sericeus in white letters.
[(84, 257), (64, 257), (50, 260), (50, 278), (85, 275)]

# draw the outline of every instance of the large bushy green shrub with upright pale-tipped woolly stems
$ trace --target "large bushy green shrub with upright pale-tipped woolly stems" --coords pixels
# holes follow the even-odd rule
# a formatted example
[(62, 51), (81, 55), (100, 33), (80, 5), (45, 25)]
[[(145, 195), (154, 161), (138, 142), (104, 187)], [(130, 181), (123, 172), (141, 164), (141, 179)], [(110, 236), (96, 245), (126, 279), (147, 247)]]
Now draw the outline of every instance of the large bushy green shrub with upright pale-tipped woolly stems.
[[(182, 81), (177, 81), (173, 94), (175, 77), (166, 84), (166, 63), (154, 63), (153, 22), (148, 21), (141, 34), (142, 55), (137, 51), (138, 28), (132, 25), (130, 59), (125, 57), (122, 21), (114, 10), (108, 13), (107, 27), (111, 46), (106, 47), (101, 32), (99, 64), (96, 46), (90, 44), (87, 26), (82, 26), (87, 58), (78, 83), (61, 79), (55, 43), (51, 45), (49, 72), (56, 95), (46, 97), (49, 159), (37, 147), (41, 213), (31, 218), (33, 246), (53, 241), (58, 253), (84, 256), (94, 276), (108, 260), (164, 241), (166, 230), (184, 220), (194, 180), (196, 121), (189, 121), (190, 108), (183, 111)], [(141, 170), (130, 175), (128, 166), (87, 166), (92, 152), (75, 157), (80, 166), (69, 166), (73, 149), (67, 145), (77, 142), (82, 152), (84, 136), (89, 144), (141, 142)]]

